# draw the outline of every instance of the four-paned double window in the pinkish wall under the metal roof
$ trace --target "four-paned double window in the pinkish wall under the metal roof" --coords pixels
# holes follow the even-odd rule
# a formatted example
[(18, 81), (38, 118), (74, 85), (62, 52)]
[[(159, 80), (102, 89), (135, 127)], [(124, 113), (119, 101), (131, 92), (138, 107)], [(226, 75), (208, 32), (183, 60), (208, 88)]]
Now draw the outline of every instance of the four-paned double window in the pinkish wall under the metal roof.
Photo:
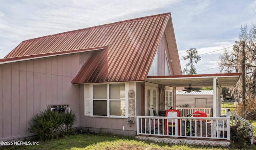
[(125, 84), (93, 85), (93, 115), (125, 116), (125, 88)]

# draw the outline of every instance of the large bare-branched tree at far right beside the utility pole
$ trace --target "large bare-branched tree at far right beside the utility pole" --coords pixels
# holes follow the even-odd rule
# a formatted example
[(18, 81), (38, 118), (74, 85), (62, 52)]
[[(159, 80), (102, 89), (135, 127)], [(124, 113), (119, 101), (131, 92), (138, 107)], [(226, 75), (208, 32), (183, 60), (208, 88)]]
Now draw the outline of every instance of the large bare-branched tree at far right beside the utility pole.
[[(240, 28), (240, 42), (236, 41), (233, 51), (224, 51), (219, 57), (219, 68), (225, 73), (242, 72), (236, 87), (230, 89), (232, 94), (243, 95), (243, 110), (246, 99), (256, 96), (256, 25), (244, 25)], [(244, 80), (244, 81), (243, 81)]]

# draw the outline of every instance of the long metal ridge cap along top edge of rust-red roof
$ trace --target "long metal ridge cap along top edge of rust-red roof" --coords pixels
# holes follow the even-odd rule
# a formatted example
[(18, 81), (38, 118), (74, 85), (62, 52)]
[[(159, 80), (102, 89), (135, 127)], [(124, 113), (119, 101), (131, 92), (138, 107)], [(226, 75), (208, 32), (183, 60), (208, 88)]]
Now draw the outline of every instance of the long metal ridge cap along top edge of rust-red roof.
[[(42, 37), (36, 37), (33, 39), (27, 39), (24, 41), (32, 41), (32, 40), (36, 40), (36, 39), (41, 39), (44, 37), (51, 37), (51, 36), (56, 36), (56, 35), (62, 35), (62, 34), (66, 34), (66, 33), (72, 33), (72, 32), (76, 32), (76, 31), (81, 31), (81, 30), (85, 30), (85, 29), (90, 29), (90, 28), (96, 28), (96, 27), (102, 27), (102, 26), (107, 26), (107, 25), (112, 25), (112, 24), (118, 24), (118, 23), (123, 23), (123, 22), (128, 22), (128, 21), (133, 21), (133, 20), (138, 20), (138, 19), (144, 19), (144, 18), (150, 18), (150, 17), (154, 17), (154, 16), (162, 16), (162, 15), (166, 15), (166, 14), (171, 14), (170, 12), (167, 13), (162, 13), (162, 14), (156, 14), (156, 15), (151, 15), (151, 16), (144, 16), (144, 17), (139, 17), (139, 18), (134, 18), (134, 19), (128, 19), (128, 20), (122, 20), (122, 21), (117, 21), (117, 22), (112, 22), (112, 23), (106, 23), (106, 24), (102, 24), (102, 25), (96, 25), (96, 26), (92, 26), (92, 27), (86, 27), (86, 28), (82, 28), (82, 29), (76, 29), (76, 30), (72, 30), (72, 31), (66, 31), (66, 32), (62, 32), (62, 33), (56, 33), (56, 34), (52, 34), (52, 35), (46, 35), (46, 36), (42, 36)], [(24, 42), (22, 41), (22, 42)]]

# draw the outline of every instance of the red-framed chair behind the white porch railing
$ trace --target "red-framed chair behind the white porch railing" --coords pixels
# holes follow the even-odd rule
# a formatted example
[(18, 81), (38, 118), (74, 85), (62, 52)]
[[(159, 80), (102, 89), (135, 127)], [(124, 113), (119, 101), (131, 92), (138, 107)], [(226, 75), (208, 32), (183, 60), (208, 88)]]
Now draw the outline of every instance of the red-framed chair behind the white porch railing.
[[(180, 117), (180, 111), (179, 110), (176, 110), (176, 109), (169, 109), (169, 110), (166, 110), (166, 113), (165, 113), (165, 116), (166, 117)], [(171, 127), (172, 130), (173, 128), (175, 128), (175, 119), (168, 119), (168, 127)], [(178, 119), (178, 135), (180, 134), (180, 120)], [(170, 132), (170, 130), (169, 130)], [(164, 121), (164, 134), (167, 134), (167, 119), (165, 119)]]

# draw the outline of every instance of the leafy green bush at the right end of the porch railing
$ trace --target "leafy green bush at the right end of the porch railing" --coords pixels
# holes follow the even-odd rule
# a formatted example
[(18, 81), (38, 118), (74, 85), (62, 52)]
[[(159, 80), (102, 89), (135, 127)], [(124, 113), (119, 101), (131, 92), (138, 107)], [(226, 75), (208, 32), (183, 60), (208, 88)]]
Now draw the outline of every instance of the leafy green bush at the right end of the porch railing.
[(250, 139), (253, 136), (253, 131), (248, 128), (248, 123), (237, 122), (236, 126), (230, 128), (230, 138), (233, 142), (234, 148), (244, 148), (250, 144)]

